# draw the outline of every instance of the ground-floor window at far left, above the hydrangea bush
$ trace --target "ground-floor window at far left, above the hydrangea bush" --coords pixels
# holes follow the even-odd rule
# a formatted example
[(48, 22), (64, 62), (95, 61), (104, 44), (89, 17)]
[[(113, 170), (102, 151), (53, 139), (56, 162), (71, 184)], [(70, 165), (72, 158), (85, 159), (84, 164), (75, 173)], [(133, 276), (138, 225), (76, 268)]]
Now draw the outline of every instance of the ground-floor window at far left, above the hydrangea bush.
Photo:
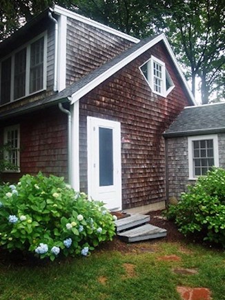
[[(6, 150), (4, 152), (4, 159), (8, 163), (19, 168), (19, 125), (10, 126), (4, 129), (4, 145)], [(6, 170), (7, 171), (7, 170)]]

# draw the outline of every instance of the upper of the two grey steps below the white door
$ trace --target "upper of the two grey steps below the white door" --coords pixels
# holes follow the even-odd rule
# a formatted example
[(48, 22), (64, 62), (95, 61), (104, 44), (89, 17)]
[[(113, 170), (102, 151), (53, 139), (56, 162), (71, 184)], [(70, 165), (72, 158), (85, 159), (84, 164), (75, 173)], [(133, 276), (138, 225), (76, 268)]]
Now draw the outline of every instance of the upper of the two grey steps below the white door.
[(130, 217), (115, 221), (115, 226), (117, 227), (117, 232), (121, 232), (128, 228), (144, 225), (148, 221), (150, 221), (150, 216), (146, 216), (145, 214), (131, 214)]

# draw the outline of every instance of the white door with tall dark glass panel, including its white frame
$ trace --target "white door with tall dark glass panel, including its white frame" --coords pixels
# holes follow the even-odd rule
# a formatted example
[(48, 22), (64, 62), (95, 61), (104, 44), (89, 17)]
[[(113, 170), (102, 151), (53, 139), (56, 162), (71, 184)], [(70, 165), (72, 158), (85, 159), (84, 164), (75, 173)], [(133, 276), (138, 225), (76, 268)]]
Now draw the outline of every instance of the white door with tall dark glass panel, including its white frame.
[(88, 195), (121, 210), (120, 123), (88, 117)]

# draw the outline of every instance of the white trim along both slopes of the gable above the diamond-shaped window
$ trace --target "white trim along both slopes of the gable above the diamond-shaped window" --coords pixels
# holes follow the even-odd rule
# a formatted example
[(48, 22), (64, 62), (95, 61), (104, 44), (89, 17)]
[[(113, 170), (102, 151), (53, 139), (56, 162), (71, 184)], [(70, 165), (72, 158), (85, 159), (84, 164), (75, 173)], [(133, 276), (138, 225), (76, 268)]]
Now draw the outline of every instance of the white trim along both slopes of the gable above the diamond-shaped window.
[(72, 96), (70, 98), (71, 99), (71, 104), (75, 103), (81, 97), (83, 97), (84, 95), (88, 94), (88, 92), (90, 92), (93, 88), (96, 88), (97, 86), (99, 86), (100, 83), (104, 82), (110, 76), (112, 76), (113, 74), (115, 74), (115, 72), (121, 70), (121, 68), (124, 68), (124, 66), (126, 66), (128, 63), (130, 63), (131, 61), (133, 61), (137, 57), (139, 57), (139, 55), (141, 55), (142, 53), (144, 53), (146, 50), (148, 50), (151, 47), (155, 46), (155, 44), (159, 43), (159, 41), (164, 41), (165, 46), (166, 46), (168, 52), (170, 53), (170, 56), (173, 59), (173, 62), (175, 63), (177, 71), (178, 71), (180, 77), (182, 78), (182, 81), (184, 82), (184, 86), (186, 87), (188, 95), (189, 95), (190, 99), (193, 101), (193, 103), (196, 105), (195, 99), (193, 97), (193, 94), (190, 91), (190, 88), (188, 86), (188, 83), (186, 82), (186, 79), (184, 77), (184, 74), (183, 74), (181, 68), (179, 68), (179, 65), (177, 63), (177, 59), (175, 58), (175, 55), (173, 54), (173, 50), (170, 47), (170, 45), (169, 45), (169, 43), (168, 43), (168, 41), (167, 41), (166, 36), (165, 36), (164, 33), (159, 34), (157, 37), (155, 37), (155, 39), (152, 39), (151, 41), (149, 41), (148, 43), (146, 43), (144, 46), (142, 46), (141, 48), (139, 48), (137, 51), (135, 51), (132, 54), (128, 55), (128, 57), (126, 57), (122, 61), (119, 61), (119, 63), (116, 63), (113, 67), (111, 67), (110, 69), (106, 70), (106, 72), (100, 74), (98, 77), (96, 77), (95, 79), (93, 79), (92, 81), (90, 81), (90, 83), (86, 84), (86, 86), (84, 86), (83, 88), (80, 88), (77, 92), (75, 92), (74, 94), (72, 94)]

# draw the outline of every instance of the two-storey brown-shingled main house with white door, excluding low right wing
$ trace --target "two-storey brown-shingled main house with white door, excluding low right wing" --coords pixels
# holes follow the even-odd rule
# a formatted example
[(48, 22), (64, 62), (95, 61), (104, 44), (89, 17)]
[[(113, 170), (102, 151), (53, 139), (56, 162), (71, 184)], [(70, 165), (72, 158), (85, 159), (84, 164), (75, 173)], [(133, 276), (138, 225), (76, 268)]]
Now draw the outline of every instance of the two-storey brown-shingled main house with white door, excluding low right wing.
[(65, 177), (111, 210), (164, 208), (163, 132), (195, 104), (164, 34), (139, 41), (60, 6), (0, 44), (0, 139), (23, 174)]

